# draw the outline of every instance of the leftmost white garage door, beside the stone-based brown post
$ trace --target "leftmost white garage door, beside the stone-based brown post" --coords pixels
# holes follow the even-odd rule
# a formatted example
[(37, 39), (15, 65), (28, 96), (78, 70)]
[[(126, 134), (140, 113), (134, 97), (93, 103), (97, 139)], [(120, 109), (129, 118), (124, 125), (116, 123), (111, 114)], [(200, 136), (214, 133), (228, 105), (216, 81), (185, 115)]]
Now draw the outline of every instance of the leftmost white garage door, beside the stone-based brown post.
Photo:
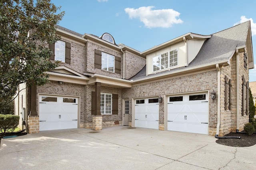
[(39, 130), (74, 129), (78, 123), (78, 98), (39, 96)]

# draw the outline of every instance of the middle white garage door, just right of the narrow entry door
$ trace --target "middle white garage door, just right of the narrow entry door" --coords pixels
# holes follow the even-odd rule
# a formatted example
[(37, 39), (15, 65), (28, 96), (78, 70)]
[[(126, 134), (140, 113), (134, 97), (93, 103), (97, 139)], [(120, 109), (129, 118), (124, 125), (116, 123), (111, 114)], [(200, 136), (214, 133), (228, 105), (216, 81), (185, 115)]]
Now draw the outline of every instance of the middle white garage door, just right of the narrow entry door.
[(135, 104), (135, 127), (158, 129), (158, 98), (138, 99)]

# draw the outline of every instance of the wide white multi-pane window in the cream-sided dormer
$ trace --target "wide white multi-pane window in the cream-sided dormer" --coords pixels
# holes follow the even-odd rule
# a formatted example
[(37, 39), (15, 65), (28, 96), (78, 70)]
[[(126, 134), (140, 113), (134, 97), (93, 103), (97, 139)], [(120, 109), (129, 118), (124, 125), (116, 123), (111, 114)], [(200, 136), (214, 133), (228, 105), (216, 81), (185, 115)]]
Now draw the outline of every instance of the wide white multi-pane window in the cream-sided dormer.
[(178, 65), (178, 49), (153, 58), (153, 71), (162, 70)]

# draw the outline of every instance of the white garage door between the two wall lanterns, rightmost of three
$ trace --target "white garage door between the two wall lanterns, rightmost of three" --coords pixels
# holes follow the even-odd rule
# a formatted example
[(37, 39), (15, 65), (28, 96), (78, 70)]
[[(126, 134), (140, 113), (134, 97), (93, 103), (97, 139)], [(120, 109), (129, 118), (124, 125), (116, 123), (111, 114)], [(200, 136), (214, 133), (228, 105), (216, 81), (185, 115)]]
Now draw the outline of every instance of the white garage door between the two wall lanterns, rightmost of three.
[(208, 94), (168, 97), (168, 130), (208, 134)]

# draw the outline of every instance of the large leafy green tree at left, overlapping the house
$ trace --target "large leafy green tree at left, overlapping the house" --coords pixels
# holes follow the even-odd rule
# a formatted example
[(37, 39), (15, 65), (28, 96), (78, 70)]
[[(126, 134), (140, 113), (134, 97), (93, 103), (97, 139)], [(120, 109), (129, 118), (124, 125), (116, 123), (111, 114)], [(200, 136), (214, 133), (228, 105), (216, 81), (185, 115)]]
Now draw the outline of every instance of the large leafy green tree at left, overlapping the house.
[(47, 70), (59, 62), (52, 62), (47, 44), (60, 39), (55, 25), (64, 12), (56, 13), (50, 0), (0, 0), (0, 109), (13, 100), (18, 85), (48, 82)]

